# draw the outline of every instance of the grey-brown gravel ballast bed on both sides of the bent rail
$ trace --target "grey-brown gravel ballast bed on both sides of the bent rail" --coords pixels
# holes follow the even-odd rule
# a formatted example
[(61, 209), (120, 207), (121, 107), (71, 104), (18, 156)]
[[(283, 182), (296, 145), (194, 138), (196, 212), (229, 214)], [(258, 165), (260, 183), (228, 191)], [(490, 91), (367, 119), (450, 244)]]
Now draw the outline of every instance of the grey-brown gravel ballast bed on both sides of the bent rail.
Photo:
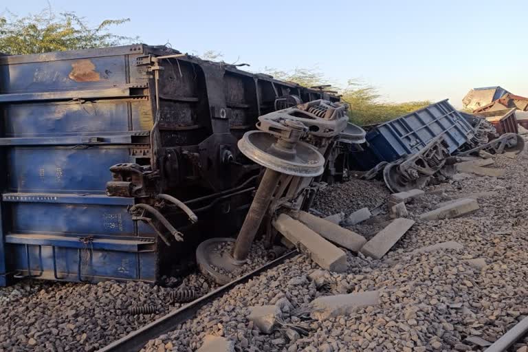
[[(495, 342), (528, 316), (528, 156), (526, 151), (516, 159), (498, 155), (495, 164), (505, 170), (504, 177), (426, 187), (424, 195), (406, 204), (416, 223), (382, 259), (346, 251), (345, 270), (337, 273), (298, 255), (236, 285), (142, 351), (196, 351), (209, 335), (232, 342), (235, 351), (484, 351), (482, 341)], [(476, 212), (419, 219), (439, 203), (478, 192), (489, 195), (478, 198)], [(380, 204), (389, 195), (382, 182), (352, 180), (322, 190), (314, 208), (325, 215), (377, 208), (382, 223), (388, 208)], [(379, 231), (371, 220), (351, 230)], [(185, 280), (202, 294), (212, 288), (198, 275)], [(22, 281), (2, 287), (0, 351), (96, 351), (180, 307), (167, 303), (172, 290), (111, 281)], [(378, 305), (326, 320), (311, 318), (317, 298), (373, 291), (379, 292)], [(129, 316), (131, 305), (161, 309)], [(270, 334), (248, 319), (250, 307), (265, 305), (281, 310)], [(527, 342), (523, 338), (513, 351), (526, 351)]]

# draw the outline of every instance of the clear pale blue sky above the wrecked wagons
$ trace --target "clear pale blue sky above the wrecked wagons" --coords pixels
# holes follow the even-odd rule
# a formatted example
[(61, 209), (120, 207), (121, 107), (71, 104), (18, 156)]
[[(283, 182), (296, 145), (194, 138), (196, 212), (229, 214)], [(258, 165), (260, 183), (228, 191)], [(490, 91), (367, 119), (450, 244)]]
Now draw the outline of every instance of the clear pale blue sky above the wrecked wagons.
[[(528, 96), (527, 0), (50, 3), (93, 24), (128, 17), (114, 32), (183, 52), (217, 50), (252, 71), (317, 66), (342, 86), (361, 78), (395, 102), (450, 98), (460, 106), (470, 88), (488, 85)], [(46, 6), (6, 8), (22, 15)]]

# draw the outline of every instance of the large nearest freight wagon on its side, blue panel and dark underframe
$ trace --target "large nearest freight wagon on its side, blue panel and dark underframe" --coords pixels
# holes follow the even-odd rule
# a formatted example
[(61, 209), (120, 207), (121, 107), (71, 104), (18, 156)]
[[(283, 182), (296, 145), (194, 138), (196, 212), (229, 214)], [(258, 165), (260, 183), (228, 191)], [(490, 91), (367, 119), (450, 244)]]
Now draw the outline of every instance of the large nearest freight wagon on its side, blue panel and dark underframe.
[(0, 56), (0, 285), (181, 269), (243, 221), (259, 173), (243, 133), (320, 98), (338, 100), (166, 47)]

